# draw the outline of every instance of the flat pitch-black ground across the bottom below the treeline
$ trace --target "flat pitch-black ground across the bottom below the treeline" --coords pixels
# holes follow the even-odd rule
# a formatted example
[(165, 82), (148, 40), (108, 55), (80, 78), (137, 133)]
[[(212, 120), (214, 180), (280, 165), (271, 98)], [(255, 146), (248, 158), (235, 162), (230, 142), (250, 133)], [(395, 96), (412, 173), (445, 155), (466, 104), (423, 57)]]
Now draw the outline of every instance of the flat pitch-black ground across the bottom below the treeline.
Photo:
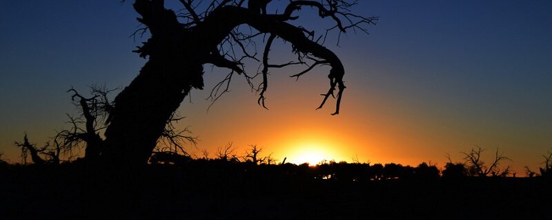
[(540, 178), (339, 181), (284, 166), (0, 169), (0, 219), (552, 219)]

